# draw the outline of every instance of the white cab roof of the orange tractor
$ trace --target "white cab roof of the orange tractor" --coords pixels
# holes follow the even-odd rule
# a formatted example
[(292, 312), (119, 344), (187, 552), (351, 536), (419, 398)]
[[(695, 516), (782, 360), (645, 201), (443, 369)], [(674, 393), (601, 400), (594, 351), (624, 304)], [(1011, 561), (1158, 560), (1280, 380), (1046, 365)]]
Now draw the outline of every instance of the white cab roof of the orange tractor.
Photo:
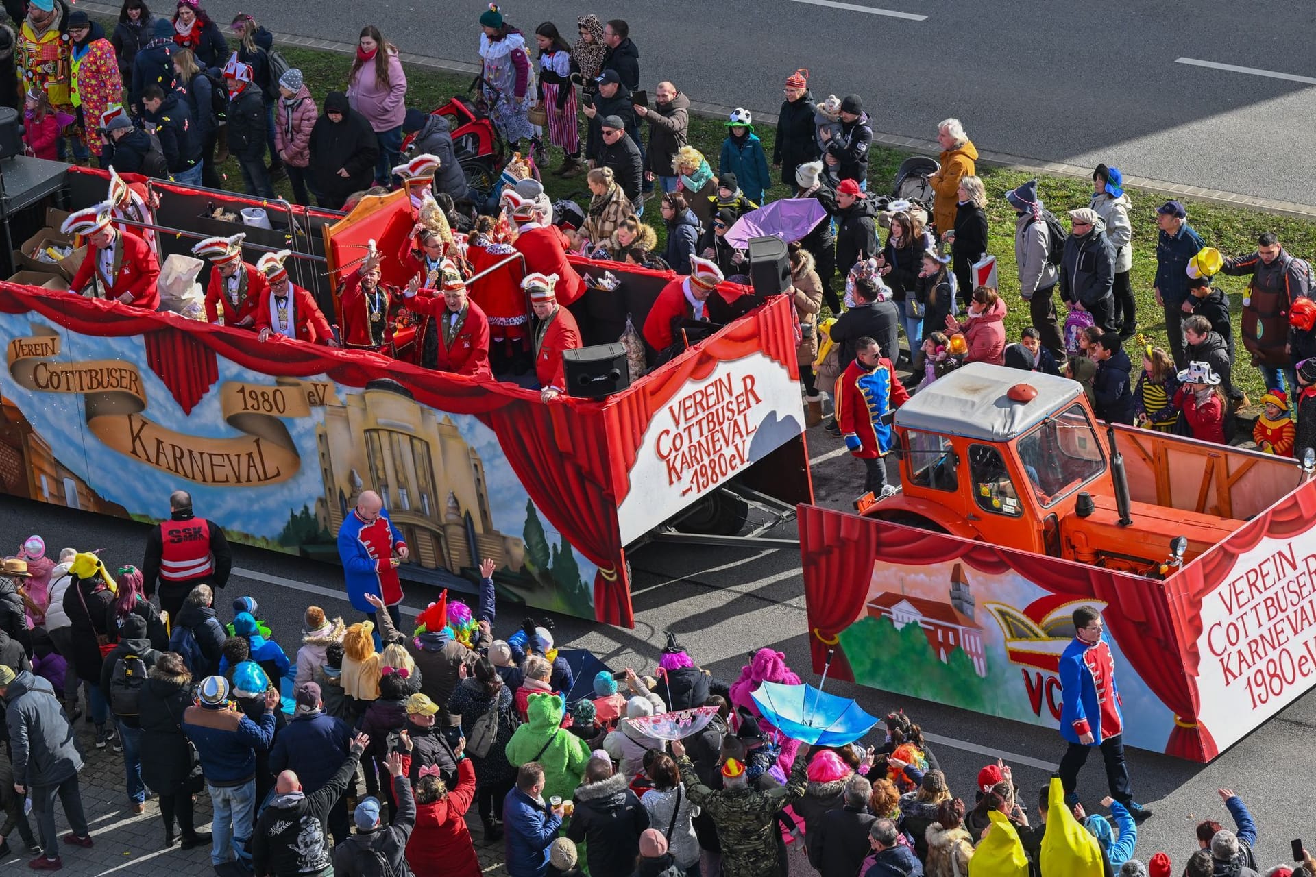
[[(1016, 384), (1030, 385), (1037, 397), (1030, 402), (1011, 401), (1005, 393)], [(912, 396), (896, 409), (895, 423), (908, 430), (1008, 442), (1082, 394), (1083, 388), (1067, 377), (969, 363)]]

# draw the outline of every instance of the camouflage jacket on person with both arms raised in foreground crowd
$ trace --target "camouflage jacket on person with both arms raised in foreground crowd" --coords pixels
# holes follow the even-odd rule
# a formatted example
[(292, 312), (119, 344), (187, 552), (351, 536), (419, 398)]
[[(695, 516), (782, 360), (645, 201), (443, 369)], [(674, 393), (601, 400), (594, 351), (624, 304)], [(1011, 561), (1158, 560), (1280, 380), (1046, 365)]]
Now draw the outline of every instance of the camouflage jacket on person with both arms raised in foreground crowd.
[(775, 815), (786, 805), (804, 797), (808, 785), (805, 763), (807, 759), (795, 759), (790, 780), (778, 789), (713, 790), (699, 781), (688, 757), (676, 759), (691, 803), (703, 807), (717, 827), (725, 877), (784, 877), (776, 857), (779, 830)]

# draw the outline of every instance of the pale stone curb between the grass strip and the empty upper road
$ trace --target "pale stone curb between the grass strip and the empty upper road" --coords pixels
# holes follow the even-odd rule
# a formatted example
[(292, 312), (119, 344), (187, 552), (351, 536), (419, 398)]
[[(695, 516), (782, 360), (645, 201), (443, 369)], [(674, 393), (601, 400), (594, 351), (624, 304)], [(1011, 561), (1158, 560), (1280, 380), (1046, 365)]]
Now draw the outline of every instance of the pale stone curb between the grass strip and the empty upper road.
[[(95, 0), (83, 0), (78, 4), (79, 8), (87, 12), (104, 14), (104, 16), (118, 16), (118, 7), (112, 7), (104, 3), (96, 3)], [(353, 43), (336, 42), (333, 39), (318, 39), (315, 37), (299, 37), (296, 34), (283, 34), (275, 33), (275, 41), (287, 46), (299, 46), (301, 49), (317, 49), (320, 51), (332, 51), (340, 55), (354, 55), (357, 47)], [(417, 55), (413, 53), (404, 51), (399, 55), (403, 62), (408, 64), (415, 64), (417, 67), (428, 67), (430, 70), (438, 70), (447, 74), (462, 74), (468, 76), (475, 76), (480, 72), (479, 64), (471, 64), (461, 60), (449, 60), (446, 58), (432, 58), (428, 55)], [(687, 95), (688, 97), (688, 95)], [(708, 104), (704, 101), (690, 101), (690, 112), (704, 117), (704, 118), (726, 118), (730, 116), (733, 107), (722, 107), (721, 104)], [(776, 113), (759, 112), (750, 108), (754, 117), (767, 122), (772, 126), (776, 125)], [(925, 155), (940, 155), (941, 146), (936, 141), (924, 141), (913, 137), (901, 137), (899, 134), (883, 134), (879, 131), (873, 131), (873, 141), (883, 146), (890, 146), (892, 149), (921, 153)], [(978, 154), (978, 162), (980, 164), (990, 164), (996, 167), (1004, 167), (1015, 171), (1026, 171), (1030, 174), (1050, 174), (1053, 176), (1071, 176), (1079, 179), (1091, 179), (1092, 168), (1079, 167), (1076, 164), (1066, 164), (1063, 162), (1048, 162), (1038, 158), (1024, 158), (1020, 155), (1009, 155), (1007, 153), (992, 153), (982, 151)], [(1279, 216), (1291, 216), (1303, 220), (1316, 220), (1316, 205), (1312, 204), (1295, 204), (1292, 201), (1277, 201), (1274, 199), (1263, 199), (1253, 195), (1241, 195), (1238, 192), (1227, 192), (1223, 189), (1207, 189), (1198, 185), (1183, 185), (1180, 183), (1167, 183), (1165, 180), (1154, 180), (1145, 176), (1125, 176), (1125, 185), (1132, 185), (1134, 188), (1146, 189), (1149, 192), (1159, 192), (1162, 195), (1170, 195), (1175, 197), (1188, 197), (1199, 201), (1212, 201), (1215, 204), (1227, 204), (1232, 206), (1246, 206), (1257, 210), (1265, 210), (1266, 213), (1277, 213)]]

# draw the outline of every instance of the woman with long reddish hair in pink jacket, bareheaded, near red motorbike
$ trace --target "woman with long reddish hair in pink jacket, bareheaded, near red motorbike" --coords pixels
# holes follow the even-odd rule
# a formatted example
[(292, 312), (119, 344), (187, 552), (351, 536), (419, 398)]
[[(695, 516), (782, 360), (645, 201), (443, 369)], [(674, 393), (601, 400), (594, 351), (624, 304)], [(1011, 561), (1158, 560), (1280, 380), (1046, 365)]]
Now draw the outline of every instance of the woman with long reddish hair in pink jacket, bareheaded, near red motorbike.
[(392, 168), (401, 164), (407, 74), (397, 46), (386, 42), (375, 25), (361, 30), (357, 58), (347, 72), (347, 104), (365, 116), (375, 131), (379, 141), (375, 183), (390, 185)]

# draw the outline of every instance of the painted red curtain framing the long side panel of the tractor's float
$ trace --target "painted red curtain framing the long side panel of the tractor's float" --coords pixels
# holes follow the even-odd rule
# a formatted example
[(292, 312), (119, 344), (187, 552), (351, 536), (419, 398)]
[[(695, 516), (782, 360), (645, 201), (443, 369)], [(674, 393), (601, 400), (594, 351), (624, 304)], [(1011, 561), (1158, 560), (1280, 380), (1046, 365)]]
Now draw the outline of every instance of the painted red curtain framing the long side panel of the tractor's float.
[[(876, 560), (895, 564), (963, 560), (991, 575), (1015, 571), (1051, 593), (1087, 596), (1112, 606), (1115, 611), (1105, 614), (1107, 628), (1152, 693), (1175, 713), (1166, 752), (1199, 761), (1217, 753), (1209, 732), (1194, 722), (1196, 690), (1178, 657), (1180, 638), (1166, 598), (1169, 582), (815, 506), (800, 506), (799, 519), (815, 669), (821, 668), (819, 655), (825, 657), (828, 643), (859, 617)], [(825, 557), (826, 563), (815, 560), (811, 565), (811, 557)], [(837, 667), (833, 659), (833, 673)]]

